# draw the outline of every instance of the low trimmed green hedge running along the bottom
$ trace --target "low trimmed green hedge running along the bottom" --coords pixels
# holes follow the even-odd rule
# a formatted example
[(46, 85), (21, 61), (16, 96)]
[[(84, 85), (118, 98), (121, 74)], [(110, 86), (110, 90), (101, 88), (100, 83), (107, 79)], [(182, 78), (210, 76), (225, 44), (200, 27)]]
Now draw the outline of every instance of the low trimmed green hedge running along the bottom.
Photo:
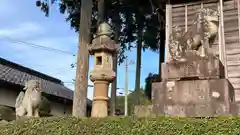
[(240, 118), (40, 118), (0, 126), (1, 135), (239, 135)]

